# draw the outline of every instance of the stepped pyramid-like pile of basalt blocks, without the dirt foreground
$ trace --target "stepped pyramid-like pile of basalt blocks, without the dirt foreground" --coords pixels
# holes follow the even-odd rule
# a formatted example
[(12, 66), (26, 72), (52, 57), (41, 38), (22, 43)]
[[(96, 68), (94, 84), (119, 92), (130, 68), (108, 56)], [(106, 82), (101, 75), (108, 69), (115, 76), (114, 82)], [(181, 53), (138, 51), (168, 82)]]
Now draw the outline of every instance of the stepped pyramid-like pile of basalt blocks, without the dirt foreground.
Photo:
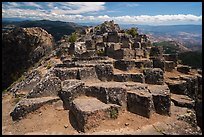
[[(85, 32), (79, 34), (83, 41), (67, 43), (65, 57), (38, 81), (27, 99), (59, 96), (83, 132), (125, 111), (147, 118), (152, 113), (171, 116), (171, 100), (181, 107), (200, 107), (195, 99), (202, 94), (202, 76), (193, 77), (189, 67), (178, 65), (177, 55), (163, 54), (146, 35), (133, 37), (114, 21)], [(23, 116), (16, 109), (11, 116)]]

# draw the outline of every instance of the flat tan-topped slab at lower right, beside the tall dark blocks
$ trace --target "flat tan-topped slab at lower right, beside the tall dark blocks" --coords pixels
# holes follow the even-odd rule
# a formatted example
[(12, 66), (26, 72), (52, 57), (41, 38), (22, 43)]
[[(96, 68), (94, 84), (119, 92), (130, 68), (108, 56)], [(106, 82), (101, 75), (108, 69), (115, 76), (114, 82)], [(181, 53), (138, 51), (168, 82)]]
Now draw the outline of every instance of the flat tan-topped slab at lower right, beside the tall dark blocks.
[(195, 106), (195, 101), (186, 95), (171, 94), (171, 100), (176, 106), (179, 107), (187, 107), (193, 109)]

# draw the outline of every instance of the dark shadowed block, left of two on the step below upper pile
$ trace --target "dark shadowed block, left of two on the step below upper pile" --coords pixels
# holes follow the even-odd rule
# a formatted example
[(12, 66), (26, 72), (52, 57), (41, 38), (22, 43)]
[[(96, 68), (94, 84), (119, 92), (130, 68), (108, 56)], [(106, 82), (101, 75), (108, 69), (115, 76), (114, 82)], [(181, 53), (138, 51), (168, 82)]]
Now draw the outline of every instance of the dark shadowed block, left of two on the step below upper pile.
[(135, 67), (135, 62), (134, 60), (116, 60), (114, 62), (114, 67), (116, 69), (128, 71)]

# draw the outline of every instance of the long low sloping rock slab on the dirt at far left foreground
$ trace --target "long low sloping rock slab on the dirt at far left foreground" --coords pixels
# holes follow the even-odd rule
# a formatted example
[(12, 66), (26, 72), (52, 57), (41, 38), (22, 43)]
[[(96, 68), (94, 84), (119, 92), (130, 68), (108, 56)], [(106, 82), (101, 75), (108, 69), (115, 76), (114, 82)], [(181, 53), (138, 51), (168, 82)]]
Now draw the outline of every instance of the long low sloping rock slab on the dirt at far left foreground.
[(30, 98), (19, 101), (14, 109), (11, 111), (10, 116), (13, 120), (20, 120), (28, 113), (37, 110), (46, 103), (52, 103), (58, 101), (59, 97), (42, 97), (42, 98)]

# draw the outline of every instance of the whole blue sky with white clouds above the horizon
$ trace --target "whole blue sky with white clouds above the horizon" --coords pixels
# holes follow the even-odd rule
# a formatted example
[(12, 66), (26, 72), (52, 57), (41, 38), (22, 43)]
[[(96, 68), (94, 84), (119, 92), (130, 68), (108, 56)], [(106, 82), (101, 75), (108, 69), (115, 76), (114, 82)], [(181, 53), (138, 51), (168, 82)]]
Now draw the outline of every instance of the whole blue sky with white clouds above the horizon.
[(3, 18), (120, 24), (202, 24), (202, 2), (2, 2)]

